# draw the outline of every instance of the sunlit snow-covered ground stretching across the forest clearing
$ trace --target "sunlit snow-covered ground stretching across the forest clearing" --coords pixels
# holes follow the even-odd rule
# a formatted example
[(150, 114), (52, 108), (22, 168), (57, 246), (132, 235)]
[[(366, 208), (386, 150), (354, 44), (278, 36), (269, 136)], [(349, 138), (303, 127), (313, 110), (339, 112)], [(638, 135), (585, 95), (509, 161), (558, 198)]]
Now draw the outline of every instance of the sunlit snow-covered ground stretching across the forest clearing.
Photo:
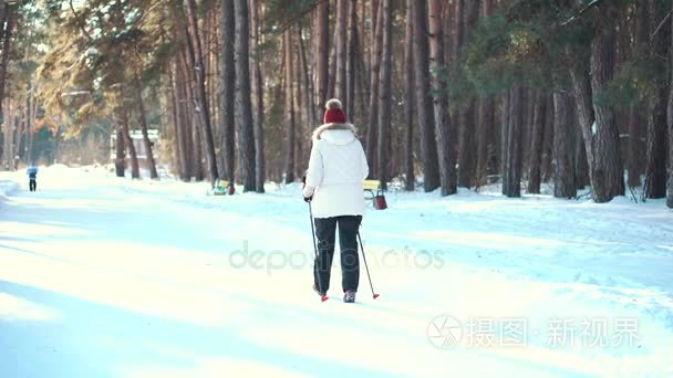
[(24, 181), (0, 174), (0, 377), (673, 375), (660, 201), (389, 193), (362, 228), (381, 297), (362, 270), (349, 305), (338, 264), (311, 291), (297, 186)]

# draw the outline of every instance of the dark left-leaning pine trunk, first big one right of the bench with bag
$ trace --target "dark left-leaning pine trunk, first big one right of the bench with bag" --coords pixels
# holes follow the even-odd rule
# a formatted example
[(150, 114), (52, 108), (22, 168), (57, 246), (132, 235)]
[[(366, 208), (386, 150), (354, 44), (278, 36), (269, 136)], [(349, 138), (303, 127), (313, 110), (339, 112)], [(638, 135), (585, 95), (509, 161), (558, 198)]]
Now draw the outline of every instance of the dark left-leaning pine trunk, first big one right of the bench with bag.
[(425, 191), (433, 191), (439, 187), (439, 169), (437, 156), (437, 141), (433, 119), (433, 98), (429, 93), (429, 55), (427, 9), (425, 1), (413, 2), (414, 15), (414, 74), (416, 78), (416, 102), (418, 109), (418, 127), (421, 130), (421, 154), (423, 159), (423, 175)]

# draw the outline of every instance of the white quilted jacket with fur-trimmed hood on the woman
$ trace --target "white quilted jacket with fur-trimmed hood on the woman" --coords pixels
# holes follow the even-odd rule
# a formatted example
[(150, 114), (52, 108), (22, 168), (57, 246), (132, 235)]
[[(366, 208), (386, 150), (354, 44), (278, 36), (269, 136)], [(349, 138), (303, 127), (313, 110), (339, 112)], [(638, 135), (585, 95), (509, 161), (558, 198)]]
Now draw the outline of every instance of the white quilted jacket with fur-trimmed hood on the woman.
[(362, 181), (369, 171), (352, 125), (327, 124), (315, 129), (303, 190), (304, 197), (313, 196), (313, 217), (362, 216)]

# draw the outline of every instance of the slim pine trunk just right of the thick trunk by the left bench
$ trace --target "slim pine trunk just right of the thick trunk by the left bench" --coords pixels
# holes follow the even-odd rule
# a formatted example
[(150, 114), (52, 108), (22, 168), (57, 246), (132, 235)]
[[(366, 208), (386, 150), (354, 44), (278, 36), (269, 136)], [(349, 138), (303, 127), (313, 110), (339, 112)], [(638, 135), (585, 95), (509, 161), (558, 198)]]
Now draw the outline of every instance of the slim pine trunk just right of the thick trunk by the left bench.
[(266, 158), (265, 158), (265, 87), (261, 73), (261, 52), (260, 43), (260, 18), (258, 0), (250, 1), (250, 41), (253, 46), (250, 54), (250, 66), (252, 67), (252, 97), (255, 98), (255, 188), (258, 193), (265, 192)]

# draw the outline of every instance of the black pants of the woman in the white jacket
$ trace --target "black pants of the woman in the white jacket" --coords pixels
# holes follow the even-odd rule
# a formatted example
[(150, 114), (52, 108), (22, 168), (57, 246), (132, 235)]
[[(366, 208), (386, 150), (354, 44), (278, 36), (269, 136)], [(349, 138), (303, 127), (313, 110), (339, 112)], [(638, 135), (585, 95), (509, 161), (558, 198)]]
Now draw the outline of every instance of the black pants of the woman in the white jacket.
[(313, 280), (321, 293), (330, 288), (330, 273), (334, 258), (336, 224), (339, 224), (339, 246), (341, 248), (341, 287), (358, 291), (360, 282), (360, 260), (358, 256), (358, 230), (361, 216), (344, 216), (315, 219), (318, 256), (313, 265)]

